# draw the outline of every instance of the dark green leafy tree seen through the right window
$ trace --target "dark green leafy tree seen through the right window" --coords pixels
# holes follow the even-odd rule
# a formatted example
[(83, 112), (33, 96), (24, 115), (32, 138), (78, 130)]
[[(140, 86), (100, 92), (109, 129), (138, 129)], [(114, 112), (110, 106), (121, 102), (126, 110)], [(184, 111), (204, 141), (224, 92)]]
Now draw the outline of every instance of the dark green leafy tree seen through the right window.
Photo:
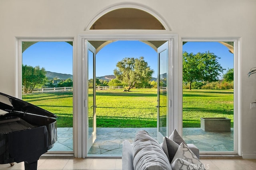
[(183, 82), (189, 83), (191, 90), (192, 82), (205, 81), (214, 82), (223, 72), (224, 68), (218, 63), (214, 53), (188, 53), (183, 52)]

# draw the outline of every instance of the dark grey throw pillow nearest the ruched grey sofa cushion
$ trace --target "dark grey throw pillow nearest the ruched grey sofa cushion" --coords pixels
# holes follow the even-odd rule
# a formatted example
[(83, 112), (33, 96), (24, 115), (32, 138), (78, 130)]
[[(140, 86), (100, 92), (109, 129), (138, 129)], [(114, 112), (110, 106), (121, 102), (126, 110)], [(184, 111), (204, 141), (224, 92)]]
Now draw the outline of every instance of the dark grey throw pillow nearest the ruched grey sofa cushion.
[(171, 162), (174, 155), (176, 154), (176, 151), (178, 150), (179, 145), (169, 138), (164, 137), (163, 143), (161, 143), (161, 147), (164, 150), (164, 153), (167, 155), (169, 162)]

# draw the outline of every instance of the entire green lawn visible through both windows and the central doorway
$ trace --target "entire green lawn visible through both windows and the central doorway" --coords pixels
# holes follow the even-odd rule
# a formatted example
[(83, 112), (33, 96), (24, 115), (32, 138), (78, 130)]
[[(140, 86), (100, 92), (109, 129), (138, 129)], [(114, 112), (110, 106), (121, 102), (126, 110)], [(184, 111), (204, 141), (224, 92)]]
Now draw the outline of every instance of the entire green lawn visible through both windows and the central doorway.
[[(72, 127), (72, 95), (24, 94), (22, 99), (58, 115), (58, 127)], [(89, 106), (91, 100), (92, 95)], [(96, 90), (97, 127), (156, 127), (156, 100), (156, 89)], [(233, 91), (184, 90), (183, 127), (200, 127), (200, 117), (228, 117), (233, 127)]]

